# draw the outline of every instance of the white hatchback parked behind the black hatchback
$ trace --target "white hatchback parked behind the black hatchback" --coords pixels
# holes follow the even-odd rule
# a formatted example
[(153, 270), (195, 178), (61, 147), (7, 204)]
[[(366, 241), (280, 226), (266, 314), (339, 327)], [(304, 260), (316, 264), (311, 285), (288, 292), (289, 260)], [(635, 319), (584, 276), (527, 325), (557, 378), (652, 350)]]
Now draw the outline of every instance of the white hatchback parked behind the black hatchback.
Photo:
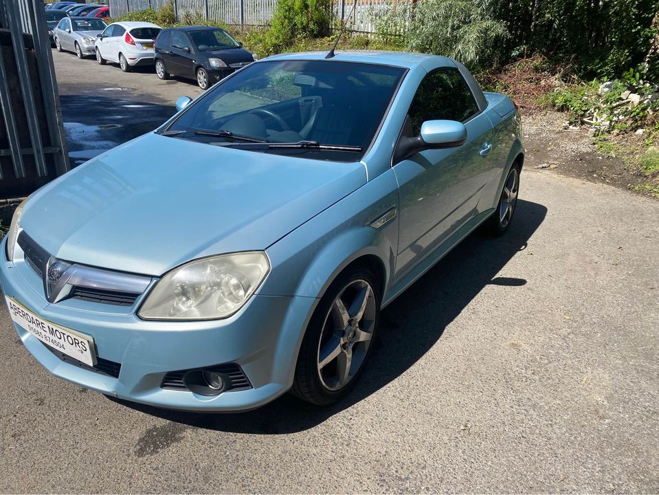
[(135, 65), (153, 65), (153, 42), (161, 29), (145, 22), (112, 23), (96, 38), (96, 61), (117, 62), (124, 72)]

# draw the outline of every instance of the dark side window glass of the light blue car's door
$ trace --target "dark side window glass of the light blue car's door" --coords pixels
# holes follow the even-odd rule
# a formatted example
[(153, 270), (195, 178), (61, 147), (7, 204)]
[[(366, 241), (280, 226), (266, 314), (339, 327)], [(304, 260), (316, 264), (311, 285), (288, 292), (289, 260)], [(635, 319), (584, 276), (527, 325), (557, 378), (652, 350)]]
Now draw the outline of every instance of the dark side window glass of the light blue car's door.
[(465, 122), (475, 113), (478, 113), (478, 105), (458, 69), (442, 67), (423, 78), (408, 115), (414, 135), (418, 135), (426, 120)]

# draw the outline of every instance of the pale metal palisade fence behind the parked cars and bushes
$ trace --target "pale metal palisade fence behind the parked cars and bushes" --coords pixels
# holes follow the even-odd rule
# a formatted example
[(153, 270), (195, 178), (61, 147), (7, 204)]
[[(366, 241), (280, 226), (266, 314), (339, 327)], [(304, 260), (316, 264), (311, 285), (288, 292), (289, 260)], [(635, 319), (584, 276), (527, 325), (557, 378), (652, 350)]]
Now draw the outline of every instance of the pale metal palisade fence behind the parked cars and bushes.
[[(147, 8), (158, 10), (170, 1), (179, 20), (187, 12), (203, 19), (241, 26), (266, 25), (277, 8), (277, 0), (109, 0), (110, 15), (120, 17)], [(354, 31), (373, 32), (372, 12), (386, 5), (388, 0), (357, 0), (348, 27)], [(348, 16), (352, 6), (351, 0), (333, 0), (333, 11), (342, 20)]]

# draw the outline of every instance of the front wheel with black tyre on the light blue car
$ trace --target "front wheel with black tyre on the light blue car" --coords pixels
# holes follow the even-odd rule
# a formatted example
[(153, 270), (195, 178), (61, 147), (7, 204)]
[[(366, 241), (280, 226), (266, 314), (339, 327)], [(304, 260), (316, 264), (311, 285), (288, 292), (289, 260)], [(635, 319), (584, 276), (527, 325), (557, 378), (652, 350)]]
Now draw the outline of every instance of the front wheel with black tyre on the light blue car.
[(344, 272), (330, 285), (304, 333), (293, 395), (320, 406), (342, 399), (355, 386), (377, 335), (379, 287), (364, 267)]

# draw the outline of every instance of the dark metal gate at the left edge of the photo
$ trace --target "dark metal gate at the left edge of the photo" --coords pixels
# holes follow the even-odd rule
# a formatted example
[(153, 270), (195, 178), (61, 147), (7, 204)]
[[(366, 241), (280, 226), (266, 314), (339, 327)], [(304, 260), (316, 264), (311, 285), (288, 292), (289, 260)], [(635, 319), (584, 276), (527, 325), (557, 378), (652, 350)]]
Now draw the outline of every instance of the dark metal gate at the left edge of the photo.
[(43, 0), (0, 0), (0, 199), (69, 170)]

